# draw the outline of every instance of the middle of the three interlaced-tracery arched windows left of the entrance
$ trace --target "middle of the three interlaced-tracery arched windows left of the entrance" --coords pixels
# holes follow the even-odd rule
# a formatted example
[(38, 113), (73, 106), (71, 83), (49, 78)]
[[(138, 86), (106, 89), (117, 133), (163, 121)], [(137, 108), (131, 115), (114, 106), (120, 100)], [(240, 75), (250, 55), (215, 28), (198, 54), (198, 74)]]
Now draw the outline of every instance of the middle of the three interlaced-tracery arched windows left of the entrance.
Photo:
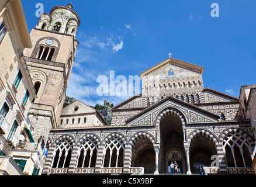
[(77, 168), (95, 167), (98, 153), (98, 144), (92, 137), (84, 140), (78, 150)]

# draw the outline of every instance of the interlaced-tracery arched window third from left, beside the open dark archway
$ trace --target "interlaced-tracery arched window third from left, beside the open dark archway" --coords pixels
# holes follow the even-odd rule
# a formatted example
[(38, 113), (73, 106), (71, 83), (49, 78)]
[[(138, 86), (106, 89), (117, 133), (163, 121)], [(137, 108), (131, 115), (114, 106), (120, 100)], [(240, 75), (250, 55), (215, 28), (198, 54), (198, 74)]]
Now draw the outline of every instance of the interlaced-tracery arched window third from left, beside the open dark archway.
[(123, 167), (124, 149), (122, 138), (110, 138), (103, 148), (103, 167)]

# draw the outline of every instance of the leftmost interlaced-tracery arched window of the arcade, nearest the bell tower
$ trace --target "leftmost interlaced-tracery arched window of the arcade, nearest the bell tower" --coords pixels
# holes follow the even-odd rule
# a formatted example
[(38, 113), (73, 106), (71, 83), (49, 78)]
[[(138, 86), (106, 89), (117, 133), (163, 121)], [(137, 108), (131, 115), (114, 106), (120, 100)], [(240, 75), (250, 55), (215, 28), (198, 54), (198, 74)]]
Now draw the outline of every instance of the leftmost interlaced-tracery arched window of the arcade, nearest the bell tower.
[(70, 166), (73, 147), (71, 140), (61, 140), (54, 149), (52, 168), (68, 168)]

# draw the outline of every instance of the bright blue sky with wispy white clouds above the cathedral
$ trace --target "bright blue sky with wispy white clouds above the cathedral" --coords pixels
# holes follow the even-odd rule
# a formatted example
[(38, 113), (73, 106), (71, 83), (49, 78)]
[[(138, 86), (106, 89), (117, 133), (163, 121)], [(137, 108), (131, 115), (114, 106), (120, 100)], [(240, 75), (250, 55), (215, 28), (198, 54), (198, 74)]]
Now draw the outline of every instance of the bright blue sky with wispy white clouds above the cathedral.
[[(256, 1), (231, 0), (22, 0), (29, 30), (37, 2), (44, 12), (72, 2), (81, 19), (67, 96), (88, 105), (114, 105), (130, 96), (98, 96), (99, 75), (139, 75), (172, 53), (205, 67), (203, 84), (238, 97), (241, 85), (256, 84)], [(219, 4), (219, 18), (210, 6)]]

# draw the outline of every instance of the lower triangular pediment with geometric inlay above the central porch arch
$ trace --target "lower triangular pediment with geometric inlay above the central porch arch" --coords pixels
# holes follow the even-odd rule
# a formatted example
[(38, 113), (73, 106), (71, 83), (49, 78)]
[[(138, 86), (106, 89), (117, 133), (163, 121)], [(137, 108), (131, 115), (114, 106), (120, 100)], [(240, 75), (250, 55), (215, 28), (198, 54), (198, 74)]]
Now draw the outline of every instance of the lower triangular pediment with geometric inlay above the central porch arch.
[(213, 113), (190, 105), (189, 103), (179, 101), (178, 99), (168, 97), (126, 120), (126, 124), (127, 126), (154, 126), (158, 116), (160, 116), (165, 109), (177, 110), (178, 113), (183, 116), (185, 124), (188, 125), (213, 123), (217, 122), (219, 119), (219, 116)]

